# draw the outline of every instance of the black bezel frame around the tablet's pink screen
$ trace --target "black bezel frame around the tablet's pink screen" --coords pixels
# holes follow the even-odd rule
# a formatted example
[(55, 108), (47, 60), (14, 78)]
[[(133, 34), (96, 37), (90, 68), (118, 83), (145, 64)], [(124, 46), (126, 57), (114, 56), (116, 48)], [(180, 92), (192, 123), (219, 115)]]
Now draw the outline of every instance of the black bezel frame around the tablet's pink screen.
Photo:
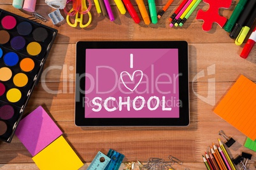
[[(83, 97), (80, 89), (85, 89), (85, 49), (178, 49), (179, 95), (183, 106), (179, 118), (85, 118)], [(78, 100), (78, 101), (77, 101)], [(79, 41), (76, 43), (76, 126), (188, 126), (188, 44), (186, 41)]]

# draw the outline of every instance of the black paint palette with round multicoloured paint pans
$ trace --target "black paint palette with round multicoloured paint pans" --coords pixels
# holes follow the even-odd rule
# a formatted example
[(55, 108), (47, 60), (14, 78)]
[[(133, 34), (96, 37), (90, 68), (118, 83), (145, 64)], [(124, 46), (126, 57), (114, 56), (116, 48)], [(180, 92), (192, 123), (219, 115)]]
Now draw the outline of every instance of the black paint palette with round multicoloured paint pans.
[(0, 140), (11, 142), (57, 30), (0, 9)]

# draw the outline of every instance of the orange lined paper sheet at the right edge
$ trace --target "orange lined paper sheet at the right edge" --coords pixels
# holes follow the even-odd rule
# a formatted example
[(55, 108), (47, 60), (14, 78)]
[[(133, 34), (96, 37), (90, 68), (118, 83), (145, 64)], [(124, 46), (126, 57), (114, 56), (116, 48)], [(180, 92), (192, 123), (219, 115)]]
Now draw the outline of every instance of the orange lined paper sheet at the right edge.
[(244, 75), (240, 75), (213, 112), (256, 140), (256, 84)]

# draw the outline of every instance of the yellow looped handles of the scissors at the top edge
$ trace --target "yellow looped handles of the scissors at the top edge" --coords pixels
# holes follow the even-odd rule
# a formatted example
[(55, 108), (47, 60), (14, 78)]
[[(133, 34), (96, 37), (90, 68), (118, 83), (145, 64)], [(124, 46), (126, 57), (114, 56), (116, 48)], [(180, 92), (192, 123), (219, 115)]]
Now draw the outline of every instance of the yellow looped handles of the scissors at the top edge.
[[(90, 0), (89, 0), (90, 1)], [(86, 6), (86, 3), (85, 3), (85, 0), (82, 0), (82, 4), (81, 4), (81, 9), (83, 11), (87, 11), (87, 6)], [(72, 13), (73, 12), (73, 8), (69, 11), (69, 13)], [(83, 13), (84, 14), (84, 13)], [(66, 19), (67, 19), (67, 23), (68, 25), (70, 25), (71, 27), (77, 27), (78, 25), (78, 22), (80, 22), (79, 26), (80, 28), (85, 28), (87, 27), (88, 25), (90, 25), (90, 23), (92, 22), (92, 15), (90, 13), (90, 11), (87, 11), (87, 14), (89, 16), (89, 20), (86, 24), (83, 24), (83, 14), (80, 13), (80, 18), (78, 18), (78, 12), (76, 12), (76, 16), (75, 16), (75, 23), (71, 23), (69, 21), (69, 15), (67, 15)], [(71, 16), (71, 15), (70, 15)]]

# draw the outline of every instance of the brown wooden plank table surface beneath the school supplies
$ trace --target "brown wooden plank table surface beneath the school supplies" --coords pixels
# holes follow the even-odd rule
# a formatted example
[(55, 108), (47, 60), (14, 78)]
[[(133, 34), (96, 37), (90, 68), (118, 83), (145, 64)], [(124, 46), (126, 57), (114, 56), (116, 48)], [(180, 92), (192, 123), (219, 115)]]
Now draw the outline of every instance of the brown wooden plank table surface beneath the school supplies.
[[(1, 0), (0, 8), (20, 16), (29, 16), (24, 11), (13, 8), (11, 3), (11, 0)], [(243, 147), (246, 136), (213, 113), (215, 104), (225, 95), (240, 74), (256, 82), (255, 46), (245, 60), (239, 56), (243, 45), (236, 46), (229, 34), (216, 23), (213, 24), (210, 32), (204, 32), (203, 22), (196, 20), (199, 9), (208, 9), (208, 4), (203, 2), (199, 4), (185, 25), (179, 28), (169, 27), (168, 21), (169, 16), (180, 3), (179, 0), (173, 1), (155, 25), (152, 23), (145, 25), (142, 20), (136, 24), (129, 13), (125, 15), (119, 13), (113, 0), (110, 0), (110, 3), (116, 18), (114, 22), (97, 14), (95, 6), (92, 6), (92, 23), (89, 27), (80, 29), (80, 27), (69, 27), (66, 22), (58, 26), (53, 25), (48, 18), (48, 13), (54, 9), (46, 5), (43, 0), (37, 2), (36, 11), (48, 18), (48, 21), (43, 24), (59, 30), (59, 34), (46, 61), (45, 70), (48, 69), (48, 72), (44, 72), (41, 81), (34, 89), (24, 115), (42, 105), (62, 130), (64, 138), (85, 163), (81, 169), (87, 169), (98, 151), (107, 154), (110, 148), (124, 154), (124, 161), (146, 162), (150, 157), (167, 160), (168, 155), (173, 155), (184, 162), (182, 166), (174, 165), (176, 169), (186, 167), (190, 170), (206, 169), (202, 154), (208, 145), (217, 143), (217, 139), (221, 138), (218, 135), (221, 129), (236, 140), (236, 143), (228, 149), (232, 157), (238, 156), (241, 152), (252, 154), (250, 169), (255, 169), (256, 153)], [(167, 0), (156, 1), (157, 11), (166, 3)], [(229, 9), (221, 9), (220, 14), (229, 18), (236, 3), (238, 1), (233, 1)], [(134, 0), (132, 4), (136, 4)], [(138, 11), (137, 5), (135, 9)], [(139, 40), (188, 42), (190, 125), (183, 128), (76, 127), (74, 124), (76, 42)], [(59, 69), (49, 69), (52, 66), (57, 66), (55, 68)], [(204, 73), (204, 77), (197, 77), (199, 72)], [(49, 89), (59, 93), (48, 93)], [(0, 141), (0, 169), (38, 169), (31, 158), (31, 154), (17, 136), (14, 136), (11, 143)], [(120, 169), (123, 167), (124, 164)]]

